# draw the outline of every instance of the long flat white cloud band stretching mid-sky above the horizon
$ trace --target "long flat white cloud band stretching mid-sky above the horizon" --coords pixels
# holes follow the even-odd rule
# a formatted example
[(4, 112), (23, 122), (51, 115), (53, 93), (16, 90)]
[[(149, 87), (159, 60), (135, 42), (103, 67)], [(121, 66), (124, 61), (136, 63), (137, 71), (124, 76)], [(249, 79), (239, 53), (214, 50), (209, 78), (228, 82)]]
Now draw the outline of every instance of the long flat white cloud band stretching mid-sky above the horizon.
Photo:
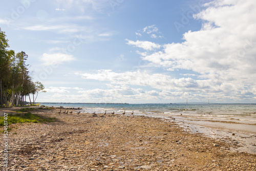
[(106, 81), (112, 84), (131, 84), (152, 87), (159, 90), (191, 91), (207, 88), (207, 81), (192, 78), (172, 78), (164, 74), (148, 74), (146, 71), (116, 73), (112, 70), (99, 70), (98, 73), (75, 73), (84, 79)]

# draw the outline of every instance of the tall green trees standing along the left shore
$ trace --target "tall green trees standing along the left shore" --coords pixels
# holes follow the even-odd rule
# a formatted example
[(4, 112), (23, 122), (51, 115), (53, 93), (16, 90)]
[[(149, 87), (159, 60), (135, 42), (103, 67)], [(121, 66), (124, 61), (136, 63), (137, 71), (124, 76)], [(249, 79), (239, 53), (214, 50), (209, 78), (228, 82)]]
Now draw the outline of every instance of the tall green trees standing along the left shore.
[(45, 87), (41, 82), (32, 81), (26, 64), (28, 55), (7, 48), (8, 39), (0, 28), (0, 106), (26, 105), (27, 97), (32, 105), (38, 93), (46, 92)]

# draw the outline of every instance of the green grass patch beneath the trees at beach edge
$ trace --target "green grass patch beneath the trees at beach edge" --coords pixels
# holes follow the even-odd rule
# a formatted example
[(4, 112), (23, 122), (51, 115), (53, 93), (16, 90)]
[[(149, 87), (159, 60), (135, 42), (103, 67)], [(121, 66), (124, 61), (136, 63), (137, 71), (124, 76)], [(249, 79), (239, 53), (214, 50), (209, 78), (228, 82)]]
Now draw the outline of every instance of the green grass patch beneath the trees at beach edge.
[[(31, 108), (29, 108), (31, 109)], [(23, 123), (23, 122), (53, 122), (56, 118), (45, 118), (41, 117), (36, 114), (25, 113), (25, 114), (16, 114), (16, 115), (9, 115), (7, 118), (8, 125), (12, 123)], [(4, 126), (5, 117), (0, 117), (0, 126)]]

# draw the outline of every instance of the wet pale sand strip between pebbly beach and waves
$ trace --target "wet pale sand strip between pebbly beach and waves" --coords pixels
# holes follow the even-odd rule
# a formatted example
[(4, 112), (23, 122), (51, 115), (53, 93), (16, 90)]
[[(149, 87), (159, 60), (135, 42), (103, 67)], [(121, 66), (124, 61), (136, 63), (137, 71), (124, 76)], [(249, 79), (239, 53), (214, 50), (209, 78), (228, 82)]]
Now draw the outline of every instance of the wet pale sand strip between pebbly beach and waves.
[[(166, 120), (172, 121), (182, 127), (189, 133), (199, 133), (209, 138), (214, 138), (220, 141), (224, 141), (229, 144), (235, 144), (236, 146), (231, 148), (232, 152), (256, 154), (256, 134), (255, 132), (241, 131), (236, 129), (227, 129), (227, 127), (220, 127), (217, 125), (208, 124), (206, 121), (204, 124), (200, 121), (193, 121), (184, 118), (172, 118), (172, 116), (150, 116), (144, 115), (146, 117), (164, 118)], [(198, 123), (197, 123), (198, 122)], [(218, 122), (218, 121), (216, 121)], [(231, 123), (235, 124), (235, 123)]]

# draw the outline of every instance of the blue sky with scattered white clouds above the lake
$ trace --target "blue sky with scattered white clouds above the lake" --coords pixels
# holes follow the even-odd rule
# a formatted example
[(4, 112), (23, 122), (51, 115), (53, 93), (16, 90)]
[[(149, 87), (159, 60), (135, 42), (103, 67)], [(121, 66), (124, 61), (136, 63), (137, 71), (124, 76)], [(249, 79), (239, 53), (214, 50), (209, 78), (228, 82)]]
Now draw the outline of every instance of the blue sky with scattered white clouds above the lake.
[(256, 1), (21, 0), (0, 28), (39, 102), (256, 103)]

